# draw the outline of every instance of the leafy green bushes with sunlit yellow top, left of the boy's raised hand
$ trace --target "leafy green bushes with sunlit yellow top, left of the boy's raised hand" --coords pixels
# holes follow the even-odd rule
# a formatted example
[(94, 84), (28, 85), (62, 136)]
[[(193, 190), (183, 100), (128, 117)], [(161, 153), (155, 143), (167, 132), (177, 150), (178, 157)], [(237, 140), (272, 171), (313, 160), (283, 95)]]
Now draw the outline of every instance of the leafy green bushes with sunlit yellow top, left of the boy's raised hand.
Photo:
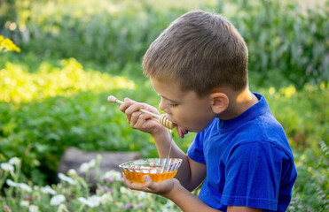
[(107, 95), (135, 84), (106, 73), (86, 72), (73, 59), (61, 63), (61, 69), (43, 63), (35, 73), (11, 63), (2, 70), (0, 148), (4, 157), (20, 155), (27, 178), (43, 183), (39, 170), (53, 176), (49, 172), (56, 172), (60, 155), (70, 146), (140, 150), (148, 155), (149, 139), (143, 133), (130, 133), (123, 114), (106, 102)]

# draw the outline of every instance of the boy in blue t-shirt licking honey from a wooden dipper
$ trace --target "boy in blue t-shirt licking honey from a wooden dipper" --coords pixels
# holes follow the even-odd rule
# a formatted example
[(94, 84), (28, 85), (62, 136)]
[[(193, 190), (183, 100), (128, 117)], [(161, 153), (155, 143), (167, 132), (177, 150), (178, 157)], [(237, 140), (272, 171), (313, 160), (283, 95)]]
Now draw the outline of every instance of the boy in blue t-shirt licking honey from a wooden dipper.
[[(191, 11), (176, 19), (150, 46), (145, 76), (161, 96), (160, 109), (180, 137), (196, 132), (187, 155), (173, 145), (170, 157), (183, 163), (176, 178), (130, 189), (157, 193), (183, 211), (285, 211), (297, 173), (286, 134), (265, 98), (248, 89), (247, 46), (222, 16)], [(145, 109), (125, 99), (121, 111), (132, 128), (150, 133), (167, 157), (168, 130)], [(199, 198), (191, 191), (203, 182)]]

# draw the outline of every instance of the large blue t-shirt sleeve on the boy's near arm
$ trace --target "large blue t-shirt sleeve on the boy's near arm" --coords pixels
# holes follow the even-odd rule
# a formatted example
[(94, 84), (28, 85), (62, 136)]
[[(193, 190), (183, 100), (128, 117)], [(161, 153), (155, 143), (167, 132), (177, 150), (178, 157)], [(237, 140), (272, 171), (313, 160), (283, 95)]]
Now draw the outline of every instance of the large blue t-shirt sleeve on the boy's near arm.
[(227, 161), (221, 203), (277, 210), (284, 151), (270, 143), (235, 148)]

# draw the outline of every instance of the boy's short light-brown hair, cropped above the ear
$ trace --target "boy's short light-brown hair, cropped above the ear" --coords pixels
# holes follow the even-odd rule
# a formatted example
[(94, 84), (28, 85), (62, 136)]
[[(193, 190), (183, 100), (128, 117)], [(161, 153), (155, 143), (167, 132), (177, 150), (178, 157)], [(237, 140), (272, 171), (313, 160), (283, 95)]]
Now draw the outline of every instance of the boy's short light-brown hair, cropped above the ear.
[(228, 20), (190, 11), (151, 44), (143, 66), (146, 77), (179, 83), (201, 97), (215, 87), (247, 87), (247, 60), (246, 43)]

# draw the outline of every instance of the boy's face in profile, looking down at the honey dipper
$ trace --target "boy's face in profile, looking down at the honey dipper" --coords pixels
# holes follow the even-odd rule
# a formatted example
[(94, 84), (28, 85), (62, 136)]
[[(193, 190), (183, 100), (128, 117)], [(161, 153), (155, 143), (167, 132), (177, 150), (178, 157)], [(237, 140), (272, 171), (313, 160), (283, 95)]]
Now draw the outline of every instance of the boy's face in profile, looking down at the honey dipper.
[(161, 96), (160, 110), (176, 125), (177, 131), (200, 133), (212, 122), (215, 113), (209, 96), (200, 98), (194, 91), (182, 91), (179, 83), (162, 83), (151, 79), (154, 90)]

